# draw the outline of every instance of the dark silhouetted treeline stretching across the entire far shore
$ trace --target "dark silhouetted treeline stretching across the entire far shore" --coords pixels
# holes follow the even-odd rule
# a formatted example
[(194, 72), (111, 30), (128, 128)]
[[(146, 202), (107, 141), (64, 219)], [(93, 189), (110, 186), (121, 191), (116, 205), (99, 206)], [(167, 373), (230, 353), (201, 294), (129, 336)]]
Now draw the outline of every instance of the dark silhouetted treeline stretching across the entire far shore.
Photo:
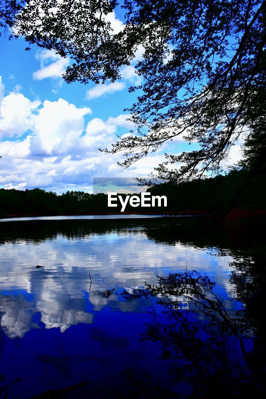
[[(266, 210), (266, 176), (250, 175), (248, 170), (232, 170), (226, 176), (193, 180), (180, 184), (159, 184), (149, 190), (152, 195), (167, 196), (167, 208), (131, 207), (134, 212), (225, 211), (229, 207)], [(125, 194), (122, 197), (125, 199)], [(120, 205), (120, 203), (118, 202)], [(67, 191), (62, 195), (33, 190), (0, 189), (0, 217), (7, 215), (59, 215), (71, 213), (105, 213), (120, 211), (107, 207), (106, 194)]]

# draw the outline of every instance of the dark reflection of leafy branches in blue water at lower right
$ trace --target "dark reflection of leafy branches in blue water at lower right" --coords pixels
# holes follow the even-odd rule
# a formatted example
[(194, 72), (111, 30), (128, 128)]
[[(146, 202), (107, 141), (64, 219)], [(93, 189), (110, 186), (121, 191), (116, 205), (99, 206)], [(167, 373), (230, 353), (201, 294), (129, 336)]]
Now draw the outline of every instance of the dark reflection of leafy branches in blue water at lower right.
[[(147, 309), (153, 322), (146, 324), (141, 340), (161, 343), (160, 359), (172, 361), (173, 380), (188, 383), (189, 397), (195, 398), (242, 398), (261, 392), (262, 347), (245, 309), (230, 309), (214, 292), (215, 283), (197, 271), (157, 277), (158, 284), (146, 282), (144, 289), (124, 291), (122, 296), (157, 298)], [(184, 397), (187, 393), (186, 388)]]

